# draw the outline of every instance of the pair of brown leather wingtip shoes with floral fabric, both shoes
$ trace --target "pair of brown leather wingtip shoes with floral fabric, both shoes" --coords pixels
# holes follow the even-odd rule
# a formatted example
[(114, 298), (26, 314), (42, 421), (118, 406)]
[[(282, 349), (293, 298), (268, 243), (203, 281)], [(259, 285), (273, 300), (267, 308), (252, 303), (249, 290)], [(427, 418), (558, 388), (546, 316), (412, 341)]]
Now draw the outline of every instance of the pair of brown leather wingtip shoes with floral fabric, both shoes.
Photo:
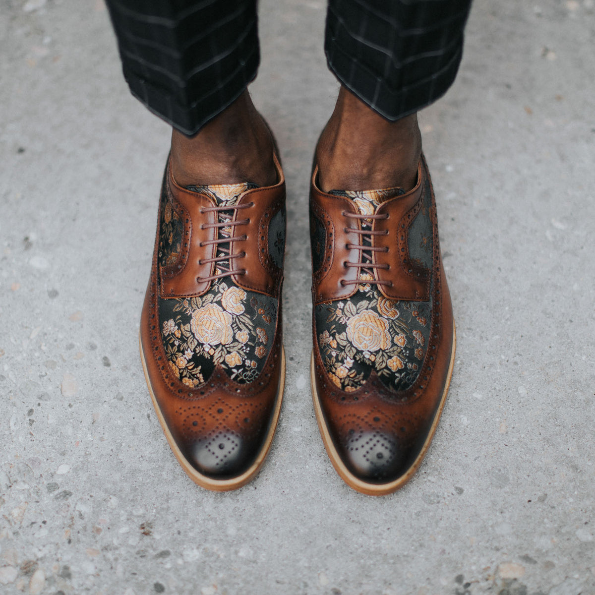
[[(165, 170), (140, 352), (159, 422), (199, 486), (232, 490), (271, 447), (285, 380), (285, 182), (180, 187)], [(401, 487), (436, 430), (455, 329), (425, 159), (410, 192), (310, 195), (312, 398), (336, 471)]]

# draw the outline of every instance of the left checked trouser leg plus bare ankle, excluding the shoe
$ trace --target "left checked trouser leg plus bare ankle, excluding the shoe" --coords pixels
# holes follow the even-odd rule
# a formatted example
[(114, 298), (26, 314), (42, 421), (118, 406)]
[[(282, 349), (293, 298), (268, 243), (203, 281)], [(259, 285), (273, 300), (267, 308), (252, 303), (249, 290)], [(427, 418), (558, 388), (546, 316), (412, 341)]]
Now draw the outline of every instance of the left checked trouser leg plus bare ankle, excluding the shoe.
[(108, 0), (108, 8), (131, 92), (173, 126), (174, 178), (274, 183), (271, 134), (246, 91), (259, 63), (255, 1)]

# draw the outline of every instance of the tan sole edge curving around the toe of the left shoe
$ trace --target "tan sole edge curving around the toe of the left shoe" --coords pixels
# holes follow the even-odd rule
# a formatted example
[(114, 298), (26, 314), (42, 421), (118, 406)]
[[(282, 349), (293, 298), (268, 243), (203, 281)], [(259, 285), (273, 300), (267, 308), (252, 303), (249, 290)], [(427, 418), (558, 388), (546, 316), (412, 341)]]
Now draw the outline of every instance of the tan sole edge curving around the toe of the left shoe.
[(261, 452), (258, 453), (255, 461), (250, 465), (242, 475), (238, 475), (237, 477), (233, 477), (228, 480), (214, 480), (211, 477), (206, 477), (206, 475), (202, 475), (196, 469), (190, 465), (190, 463), (186, 460), (186, 457), (181, 453), (180, 449), (177, 447), (176, 441), (174, 440), (173, 436), (171, 436), (170, 430), (165, 423), (165, 419), (163, 414), (161, 413), (161, 409), (159, 409), (159, 405), (157, 400), (155, 399), (155, 393), (151, 387), (151, 382), (149, 381), (149, 375), (147, 374), (147, 367), (145, 361), (145, 353), (143, 352), (143, 346), (140, 342), (140, 334), (139, 334), (139, 348), (140, 348), (140, 360), (143, 364), (143, 371), (145, 372), (145, 380), (147, 386), (149, 388), (149, 394), (151, 394), (151, 400), (153, 402), (153, 406), (155, 408), (155, 413), (157, 414), (157, 418), (159, 419), (159, 423), (161, 424), (161, 429), (165, 434), (165, 438), (170, 445), (170, 448), (178, 462), (180, 463), (182, 469), (186, 472), (186, 475), (199, 486), (206, 488), (207, 490), (213, 491), (229, 491), (229, 490), (237, 490), (242, 486), (245, 486), (252, 478), (258, 473), (262, 464), (267, 458), (268, 451), (271, 449), (271, 444), (273, 444), (273, 437), (275, 435), (275, 430), (277, 429), (277, 422), (279, 421), (279, 415), (281, 413), (281, 402), (283, 401), (283, 389), (285, 387), (285, 350), (283, 346), (281, 346), (281, 379), (279, 383), (279, 392), (277, 394), (277, 401), (275, 402), (275, 409), (273, 412), (273, 419), (271, 419), (271, 427), (269, 428), (267, 439), (262, 446)]

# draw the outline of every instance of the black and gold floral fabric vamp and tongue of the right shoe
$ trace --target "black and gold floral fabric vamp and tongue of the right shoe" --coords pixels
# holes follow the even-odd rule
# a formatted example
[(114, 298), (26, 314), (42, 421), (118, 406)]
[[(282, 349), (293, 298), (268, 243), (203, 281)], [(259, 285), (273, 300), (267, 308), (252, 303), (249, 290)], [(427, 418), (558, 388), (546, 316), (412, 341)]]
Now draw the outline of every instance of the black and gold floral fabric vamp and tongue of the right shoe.
[[(401, 189), (334, 191), (353, 199), (362, 215), (374, 214)], [(362, 229), (371, 230), (371, 220)], [(362, 245), (371, 245), (362, 235)], [(431, 239), (430, 239), (431, 250)], [(362, 250), (362, 262), (371, 262), (371, 252)], [(406, 302), (384, 297), (374, 283), (373, 271), (362, 267), (362, 281), (352, 297), (316, 307), (318, 347), (331, 381), (341, 390), (353, 392), (372, 370), (384, 386), (406, 390), (417, 380), (430, 337), (430, 302)]]

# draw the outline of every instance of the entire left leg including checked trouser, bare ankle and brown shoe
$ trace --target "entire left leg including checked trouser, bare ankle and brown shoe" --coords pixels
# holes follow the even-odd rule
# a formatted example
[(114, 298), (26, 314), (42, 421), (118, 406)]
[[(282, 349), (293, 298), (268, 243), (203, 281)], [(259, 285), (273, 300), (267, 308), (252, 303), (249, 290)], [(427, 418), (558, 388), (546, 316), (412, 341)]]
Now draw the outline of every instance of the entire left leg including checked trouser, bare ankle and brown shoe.
[(140, 353), (184, 471), (231, 490), (264, 462), (284, 383), (285, 186), (256, 76), (255, 0), (109, 0), (134, 95), (174, 127)]

